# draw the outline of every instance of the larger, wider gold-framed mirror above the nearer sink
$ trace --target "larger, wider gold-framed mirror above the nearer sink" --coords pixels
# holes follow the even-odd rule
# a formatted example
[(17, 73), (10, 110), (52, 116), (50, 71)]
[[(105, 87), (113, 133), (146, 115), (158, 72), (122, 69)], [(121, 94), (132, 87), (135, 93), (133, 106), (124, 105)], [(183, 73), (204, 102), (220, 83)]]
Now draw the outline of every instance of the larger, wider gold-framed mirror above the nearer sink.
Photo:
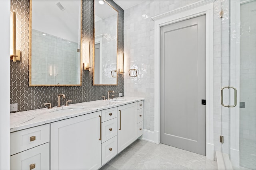
[(82, 0), (30, 0), (30, 86), (81, 86)]

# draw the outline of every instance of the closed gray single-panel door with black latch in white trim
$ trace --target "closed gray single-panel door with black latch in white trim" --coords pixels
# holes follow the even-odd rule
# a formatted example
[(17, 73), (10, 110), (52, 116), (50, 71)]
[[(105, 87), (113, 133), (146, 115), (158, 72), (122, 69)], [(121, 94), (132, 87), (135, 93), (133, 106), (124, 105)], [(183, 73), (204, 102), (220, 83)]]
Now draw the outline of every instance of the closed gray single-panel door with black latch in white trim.
[(205, 15), (160, 28), (160, 143), (206, 155)]

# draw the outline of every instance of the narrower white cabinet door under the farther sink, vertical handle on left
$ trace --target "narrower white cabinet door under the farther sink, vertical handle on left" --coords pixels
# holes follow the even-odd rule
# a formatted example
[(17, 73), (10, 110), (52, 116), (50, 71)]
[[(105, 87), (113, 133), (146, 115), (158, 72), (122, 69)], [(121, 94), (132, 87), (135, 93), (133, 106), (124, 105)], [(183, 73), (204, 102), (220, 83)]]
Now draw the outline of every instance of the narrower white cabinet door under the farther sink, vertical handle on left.
[(137, 139), (137, 103), (118, 107), (118, 153)]

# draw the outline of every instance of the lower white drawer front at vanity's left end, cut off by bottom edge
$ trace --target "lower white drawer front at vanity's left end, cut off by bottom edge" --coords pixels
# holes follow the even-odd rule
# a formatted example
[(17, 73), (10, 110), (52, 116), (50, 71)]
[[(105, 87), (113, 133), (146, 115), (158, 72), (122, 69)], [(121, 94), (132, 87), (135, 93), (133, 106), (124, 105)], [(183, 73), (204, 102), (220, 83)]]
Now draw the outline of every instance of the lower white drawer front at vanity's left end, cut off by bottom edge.
[(49, 170), (49, 143), (10, 156), (11, 170)]

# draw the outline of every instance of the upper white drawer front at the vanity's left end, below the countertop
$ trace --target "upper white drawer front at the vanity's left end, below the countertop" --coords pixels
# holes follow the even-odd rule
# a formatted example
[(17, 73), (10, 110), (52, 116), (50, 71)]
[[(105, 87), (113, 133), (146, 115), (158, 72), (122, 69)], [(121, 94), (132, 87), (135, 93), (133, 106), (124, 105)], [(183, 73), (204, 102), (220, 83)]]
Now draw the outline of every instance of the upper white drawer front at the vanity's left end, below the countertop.
[(50, 124), (10, 133), (10, 155), (50, 141)]

